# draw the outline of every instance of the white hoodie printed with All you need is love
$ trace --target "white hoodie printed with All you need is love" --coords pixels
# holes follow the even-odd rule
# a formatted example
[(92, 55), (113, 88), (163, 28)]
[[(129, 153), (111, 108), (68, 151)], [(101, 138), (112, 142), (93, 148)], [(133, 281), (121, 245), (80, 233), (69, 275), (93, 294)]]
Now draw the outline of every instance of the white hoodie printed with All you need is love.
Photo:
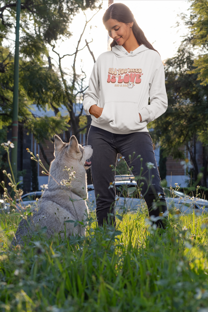
[(87, 115), (94, 104), (103, 110), (98, 118), (91, 115), (91, 125), (117, 134), (148, 131), (147, 123), (167, 109), (164, 68), (159, 54), (143, 44), (130, 53), (122, 45), (102, 53), (94, 64), (84, 94), (83, 108)]

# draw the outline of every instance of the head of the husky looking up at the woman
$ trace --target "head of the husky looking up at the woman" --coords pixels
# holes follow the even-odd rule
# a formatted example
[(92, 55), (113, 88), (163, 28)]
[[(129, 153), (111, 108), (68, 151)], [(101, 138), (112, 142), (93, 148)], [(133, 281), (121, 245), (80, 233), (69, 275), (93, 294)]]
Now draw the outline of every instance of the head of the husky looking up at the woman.
[(78, 144), (78, 141), (74, 135), (70, 137), (68, 143), (64, 143), (58, 135), (54, 135), (55, 158), (60, 154), (62, 154), (63, 157), (66, 156), (74, 160), (78, 160), (85, 169), (88, 169), (91, 166), (91, 161), (86, 160), (92, 155), (92, 146), (81, 146)]

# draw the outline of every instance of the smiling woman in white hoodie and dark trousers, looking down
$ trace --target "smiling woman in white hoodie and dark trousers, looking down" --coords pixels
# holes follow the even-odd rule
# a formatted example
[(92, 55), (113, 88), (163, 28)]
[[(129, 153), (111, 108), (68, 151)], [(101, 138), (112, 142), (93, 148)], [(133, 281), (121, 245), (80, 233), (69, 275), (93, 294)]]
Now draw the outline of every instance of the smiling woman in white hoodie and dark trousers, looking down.
[(142, 171), (143, 185), (139, 181), (137, 185), (149, 215), (155, 216), (151, 219), (162, 226), (159, 216), (167, 208), (146, 125), (167, 108), (163, 64), (126, 5), (111, 4), (102, 21), (113, 39), (111, 51), (97, 58), (83, 99), (83, 108), (92, 118), (87, 144), (93, 146), (91, 174), (97, 222), (102, 225), (104, 221), (115, 221), (115, 187), (109, 187), (114, 185), (110, 183), (115, 171), (110, 165), (116, 165), (120, 153), (128, 166), (133, 166), (134, 176)]

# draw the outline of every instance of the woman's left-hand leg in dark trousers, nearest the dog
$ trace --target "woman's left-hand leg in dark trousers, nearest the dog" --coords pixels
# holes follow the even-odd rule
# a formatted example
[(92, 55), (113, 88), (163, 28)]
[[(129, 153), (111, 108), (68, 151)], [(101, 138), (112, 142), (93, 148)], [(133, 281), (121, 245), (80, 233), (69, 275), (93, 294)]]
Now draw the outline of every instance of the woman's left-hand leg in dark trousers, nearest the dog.
[[(117, 150), (112, 141), (112, 133), (90, 126), (87, 144), (92, 145), (93, 154), (91, 160), (91, 176), (94, 185), (96, 198), (96, 216), (98, 225), (103, 222), (115, 222), (114, 204), (115, 187), (109, 187), (110, 182), (115, 179), (115, 171), (112, 171), (111, 164), (115, 166), (117, 159)], [(108, 213), (113, 216), (107, 217)]]

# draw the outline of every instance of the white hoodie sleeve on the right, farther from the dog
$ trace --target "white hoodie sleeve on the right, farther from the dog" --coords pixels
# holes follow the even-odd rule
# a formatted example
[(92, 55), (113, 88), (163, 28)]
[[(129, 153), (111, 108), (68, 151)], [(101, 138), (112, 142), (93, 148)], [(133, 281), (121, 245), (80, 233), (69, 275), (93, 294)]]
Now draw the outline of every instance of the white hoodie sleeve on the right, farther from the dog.
[(150, 105), (146, 105), (139, 111), (142, 121), (147, 120), (150, 122), (163, 114), (167, 109), (164, 67), (161, 59), (149, 82), (149, 99)]

